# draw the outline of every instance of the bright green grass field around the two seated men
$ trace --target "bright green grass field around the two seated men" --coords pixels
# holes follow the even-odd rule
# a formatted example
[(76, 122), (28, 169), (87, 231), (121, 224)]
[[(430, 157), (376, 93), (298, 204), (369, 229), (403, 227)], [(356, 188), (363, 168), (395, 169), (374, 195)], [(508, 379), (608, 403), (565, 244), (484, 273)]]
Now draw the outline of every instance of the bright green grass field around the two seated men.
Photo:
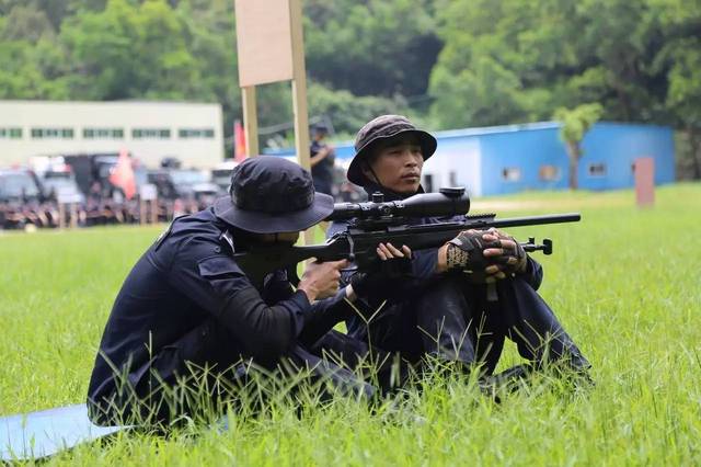
[[(234, 419), (226, 433), (125, 433), (49, 464), (701, 464), (701, 184), (662, 187), (645, 209), (631, 191), (496, 201), (528, 207), (501, 217), (582, 213), (510, 231), (554, 240), (541, 293), (594, 364), (593, 390), (536, 384), (495, 405), (449, 379), (392, 412), (338, 400)], [(0, 232), (1, 415), (84, 400), (112, 300), (162, 228)], [(508, 348), (502, 365), (516, 362)]]

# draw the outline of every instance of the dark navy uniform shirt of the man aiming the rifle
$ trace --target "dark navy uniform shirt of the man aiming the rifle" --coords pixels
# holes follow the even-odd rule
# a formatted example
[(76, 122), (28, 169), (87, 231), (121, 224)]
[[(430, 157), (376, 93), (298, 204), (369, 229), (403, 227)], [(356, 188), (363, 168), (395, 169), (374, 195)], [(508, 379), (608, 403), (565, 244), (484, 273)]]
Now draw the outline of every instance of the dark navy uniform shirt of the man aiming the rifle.
[(275, 361), (303, 338), (314, 342), (352, 312), (345, 292), (315, 301), (286, 273), (254, 287), (231, 257), (235, 238), (209, 208), (173, 221), (124, 282), (105, 327), (89, 398), (115, 390), (115, 372), (134, 385), (149, 361), (207, 319), (226, 328), (242, 356)]

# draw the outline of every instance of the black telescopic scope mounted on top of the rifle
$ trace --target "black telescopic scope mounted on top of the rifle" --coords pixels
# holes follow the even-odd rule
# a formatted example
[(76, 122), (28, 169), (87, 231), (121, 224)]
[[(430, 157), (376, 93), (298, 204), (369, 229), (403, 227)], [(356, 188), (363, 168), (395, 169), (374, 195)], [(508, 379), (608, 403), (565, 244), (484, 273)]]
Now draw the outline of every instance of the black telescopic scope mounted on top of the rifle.
[(470, 197), (464, 187), (445, 187), (439, 193), (420, 193), (400, 201), (384, 201), (380, 192), (366, 203), (336, 203), (325, 220), (380, 219), (388, 217), (446, 217), (467, 214)]

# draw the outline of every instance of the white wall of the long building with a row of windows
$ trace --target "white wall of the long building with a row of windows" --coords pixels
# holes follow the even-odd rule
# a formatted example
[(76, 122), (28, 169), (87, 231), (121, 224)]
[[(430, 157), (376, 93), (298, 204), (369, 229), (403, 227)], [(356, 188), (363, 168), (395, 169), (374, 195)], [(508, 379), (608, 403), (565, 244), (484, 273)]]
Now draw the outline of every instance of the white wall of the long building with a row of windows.
[[(21, 128), (21, 138), (12, 129)], [(72, 129), (72, 137), (33, 136), (33, 129)], [(85, 129), (122, 129), (119, 137), (85, 137)], [(134, 130), (166, 129), (168, 137), (138, 138)], [(3, 132), (4, 129), (4, 132)], [(207, 137), (184, 138), (181, 129)], [(205, 130), (210, 130), (205, 132)], [(146, 167), (176, 157), (183, 167), (211, 168), (223, 160), (221, 105), (182, 102), (0, 101), (0, 167), (26, 164), (34, 156), (118, 152), (127, 149)], [(13, 133), (16, 134), (16, 130)], [(210, 136), (209, 136), (210, 135)]]

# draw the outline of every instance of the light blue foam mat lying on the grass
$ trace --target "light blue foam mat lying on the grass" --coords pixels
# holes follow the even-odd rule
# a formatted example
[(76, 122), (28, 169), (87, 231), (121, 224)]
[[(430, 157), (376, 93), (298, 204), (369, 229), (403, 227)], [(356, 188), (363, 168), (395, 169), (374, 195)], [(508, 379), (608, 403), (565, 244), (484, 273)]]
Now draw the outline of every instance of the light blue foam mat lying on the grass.
[(41, 458), (124, 430), (97, 426), (84, 403), (0, 418), (0, 459)]

